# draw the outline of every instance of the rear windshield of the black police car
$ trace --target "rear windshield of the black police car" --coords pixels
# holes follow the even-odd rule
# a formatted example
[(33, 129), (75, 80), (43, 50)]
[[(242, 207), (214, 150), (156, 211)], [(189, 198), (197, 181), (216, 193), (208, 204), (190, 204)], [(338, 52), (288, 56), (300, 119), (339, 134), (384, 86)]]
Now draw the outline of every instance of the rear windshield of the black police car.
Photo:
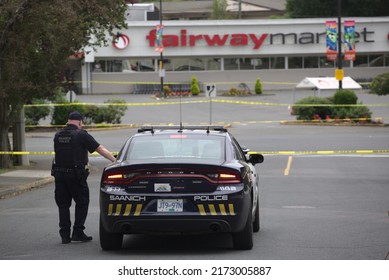
[(167, 159), (220, 162), (224, 158), (224, 136), (182, 133), (134, 137), (126, 155), (126, 160), (142, 162), (158, 162)]

